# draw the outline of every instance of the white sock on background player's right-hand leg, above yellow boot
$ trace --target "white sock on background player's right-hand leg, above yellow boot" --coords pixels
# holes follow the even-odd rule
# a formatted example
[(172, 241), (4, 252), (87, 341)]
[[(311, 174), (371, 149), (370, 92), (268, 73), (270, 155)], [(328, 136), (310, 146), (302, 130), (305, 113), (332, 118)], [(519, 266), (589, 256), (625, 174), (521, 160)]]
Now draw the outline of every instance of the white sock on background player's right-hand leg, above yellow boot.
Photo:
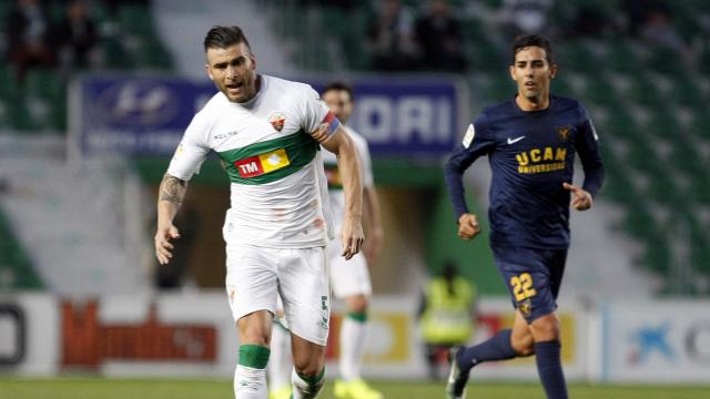
[(341, 325), (341, 378), (352, 381), (361, 378), (367, 342), (367, 321), (345, 317)]

